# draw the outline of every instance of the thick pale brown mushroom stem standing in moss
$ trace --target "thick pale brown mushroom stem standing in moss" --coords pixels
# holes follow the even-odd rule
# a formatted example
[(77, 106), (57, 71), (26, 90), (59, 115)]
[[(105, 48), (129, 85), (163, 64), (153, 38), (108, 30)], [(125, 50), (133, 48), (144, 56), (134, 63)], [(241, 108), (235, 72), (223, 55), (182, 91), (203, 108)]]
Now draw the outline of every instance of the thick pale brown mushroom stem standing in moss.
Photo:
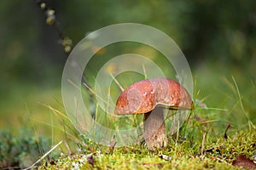
[(166, 124), (164, 108), (156, 107), (144, 114), (144, 139), (148, 148), (166, 147)]

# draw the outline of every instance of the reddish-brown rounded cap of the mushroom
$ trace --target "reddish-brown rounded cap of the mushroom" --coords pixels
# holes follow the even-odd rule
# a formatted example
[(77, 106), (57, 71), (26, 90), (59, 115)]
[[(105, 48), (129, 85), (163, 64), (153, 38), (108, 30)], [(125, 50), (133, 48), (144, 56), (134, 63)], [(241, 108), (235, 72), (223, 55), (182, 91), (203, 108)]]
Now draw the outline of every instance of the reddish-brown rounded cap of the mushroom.
[(188, 91), (178, 82), (169, 78), (154, 78), (131, 84), (119, 95), (115, 114), (143, 114), (154, 110), (156, 105), (164, 105), (170, 109), (193, 108)]

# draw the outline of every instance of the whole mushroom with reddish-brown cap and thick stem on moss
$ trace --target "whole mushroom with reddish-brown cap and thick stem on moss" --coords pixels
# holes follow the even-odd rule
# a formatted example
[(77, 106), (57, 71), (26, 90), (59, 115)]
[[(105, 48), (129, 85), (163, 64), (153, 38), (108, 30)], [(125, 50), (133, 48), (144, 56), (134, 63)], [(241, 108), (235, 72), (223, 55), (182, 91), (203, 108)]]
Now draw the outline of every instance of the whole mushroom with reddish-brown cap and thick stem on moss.
[(154, 78), (133, 83), (117, 99), (116, 115), (144, 114), (144, 139), (148, 148), (166, 147), (164, 108), (191, 110), (188, 91), (169, 78)]

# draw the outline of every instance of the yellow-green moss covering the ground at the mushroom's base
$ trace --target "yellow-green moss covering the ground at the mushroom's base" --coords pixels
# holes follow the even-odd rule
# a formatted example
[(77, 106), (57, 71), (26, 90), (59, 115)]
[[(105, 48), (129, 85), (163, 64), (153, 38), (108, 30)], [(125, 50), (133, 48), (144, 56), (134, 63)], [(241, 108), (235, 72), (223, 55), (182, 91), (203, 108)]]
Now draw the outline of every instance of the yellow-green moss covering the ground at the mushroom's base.
[[(136, 144), (114, 148), (112, 155), (106, 154), (108, 148), (97, 145), (95, 153), (87, 154), (88, 150), (84, 150), (84, 154), (61, 157), (54, 163), (44, 162), (38, 169), (239, 169), (232, 167), (232, 161), (237, 156), (253, 160), (256, 133), (241, 131), (228, 139), (208, 137), (203, 155), (200, 140), (192, 145), (188, 139), (171, 140), (165, 149), (149, 151)], [(163, 159), (160, 155), (169, 157)]]

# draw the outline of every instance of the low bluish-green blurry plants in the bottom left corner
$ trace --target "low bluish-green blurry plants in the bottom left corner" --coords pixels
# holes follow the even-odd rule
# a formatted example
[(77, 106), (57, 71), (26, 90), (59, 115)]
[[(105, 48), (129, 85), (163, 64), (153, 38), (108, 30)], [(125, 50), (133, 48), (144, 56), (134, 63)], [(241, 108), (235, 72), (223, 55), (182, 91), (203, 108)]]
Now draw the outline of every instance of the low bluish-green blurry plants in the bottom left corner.
[[(50, 139), (37, 138), (31, 132), (21, 131), (20, 137), (9, 131), (0, 131), (0, 167), (28, 167), (49, 150)], [(55, 156), (53, 153), (51, 157)]]

